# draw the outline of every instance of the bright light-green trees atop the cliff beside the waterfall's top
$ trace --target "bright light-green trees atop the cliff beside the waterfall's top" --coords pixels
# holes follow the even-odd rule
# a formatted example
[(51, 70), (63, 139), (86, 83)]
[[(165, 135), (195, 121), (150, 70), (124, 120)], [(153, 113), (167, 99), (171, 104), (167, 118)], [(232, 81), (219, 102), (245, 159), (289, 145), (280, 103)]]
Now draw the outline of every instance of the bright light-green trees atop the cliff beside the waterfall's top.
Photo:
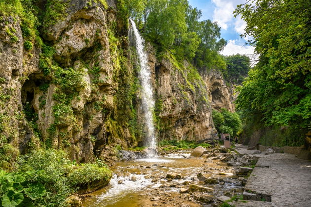
[(188, 0), (118, 2), (124, 16), (134, 19), (139, 30), (159, 51), (169, 50), (177, 58), (187, 58), (198, 67), (226, 68), (218, 54), (226, 45), (220, 38), (221, 28), (211, 20), (200, 21), (202, 11), (191, 7)]

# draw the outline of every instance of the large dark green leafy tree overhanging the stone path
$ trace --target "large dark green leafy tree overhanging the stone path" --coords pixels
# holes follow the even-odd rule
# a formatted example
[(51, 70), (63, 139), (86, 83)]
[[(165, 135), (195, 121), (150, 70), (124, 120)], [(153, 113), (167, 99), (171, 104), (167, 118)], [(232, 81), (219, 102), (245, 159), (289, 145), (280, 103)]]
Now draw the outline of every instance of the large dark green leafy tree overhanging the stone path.
[(240, 88), (237, 108), (266, 126), (303, 133), (311, 120), (311, 2), (251, 0), (234, 13), (246, 21), (244, 36), (254, 37), (250, 44), (260, 54)]

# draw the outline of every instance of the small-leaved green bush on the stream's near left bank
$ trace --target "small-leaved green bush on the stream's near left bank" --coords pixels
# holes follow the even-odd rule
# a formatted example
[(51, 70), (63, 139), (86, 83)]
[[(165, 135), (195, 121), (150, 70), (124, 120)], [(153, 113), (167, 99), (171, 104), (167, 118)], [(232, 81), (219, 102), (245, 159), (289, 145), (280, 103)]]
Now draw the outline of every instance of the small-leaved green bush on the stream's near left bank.
[(42, 183), (46, 190), (42, 198), (34, 201), (38, 207), (65, 206), (70, 194), (103, 186), (112, 176), (106, 166), (76, 164), (67, 159), (64, 151), (53, 149), (33, 151), (21, 157), (18, 164), (15, 173), (27, 174), (27, 182)]

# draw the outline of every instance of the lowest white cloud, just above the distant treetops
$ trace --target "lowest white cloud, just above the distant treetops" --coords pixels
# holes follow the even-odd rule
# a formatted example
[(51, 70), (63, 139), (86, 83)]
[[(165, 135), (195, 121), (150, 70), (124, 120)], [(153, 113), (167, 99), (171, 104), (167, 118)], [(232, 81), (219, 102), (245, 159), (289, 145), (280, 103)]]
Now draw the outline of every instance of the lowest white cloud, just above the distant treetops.
[(220, 53), (222, 55), (253, 55), (254, 47), (250, 45), (239, 45), (236, 40), (229, 40), (224, 50)]

